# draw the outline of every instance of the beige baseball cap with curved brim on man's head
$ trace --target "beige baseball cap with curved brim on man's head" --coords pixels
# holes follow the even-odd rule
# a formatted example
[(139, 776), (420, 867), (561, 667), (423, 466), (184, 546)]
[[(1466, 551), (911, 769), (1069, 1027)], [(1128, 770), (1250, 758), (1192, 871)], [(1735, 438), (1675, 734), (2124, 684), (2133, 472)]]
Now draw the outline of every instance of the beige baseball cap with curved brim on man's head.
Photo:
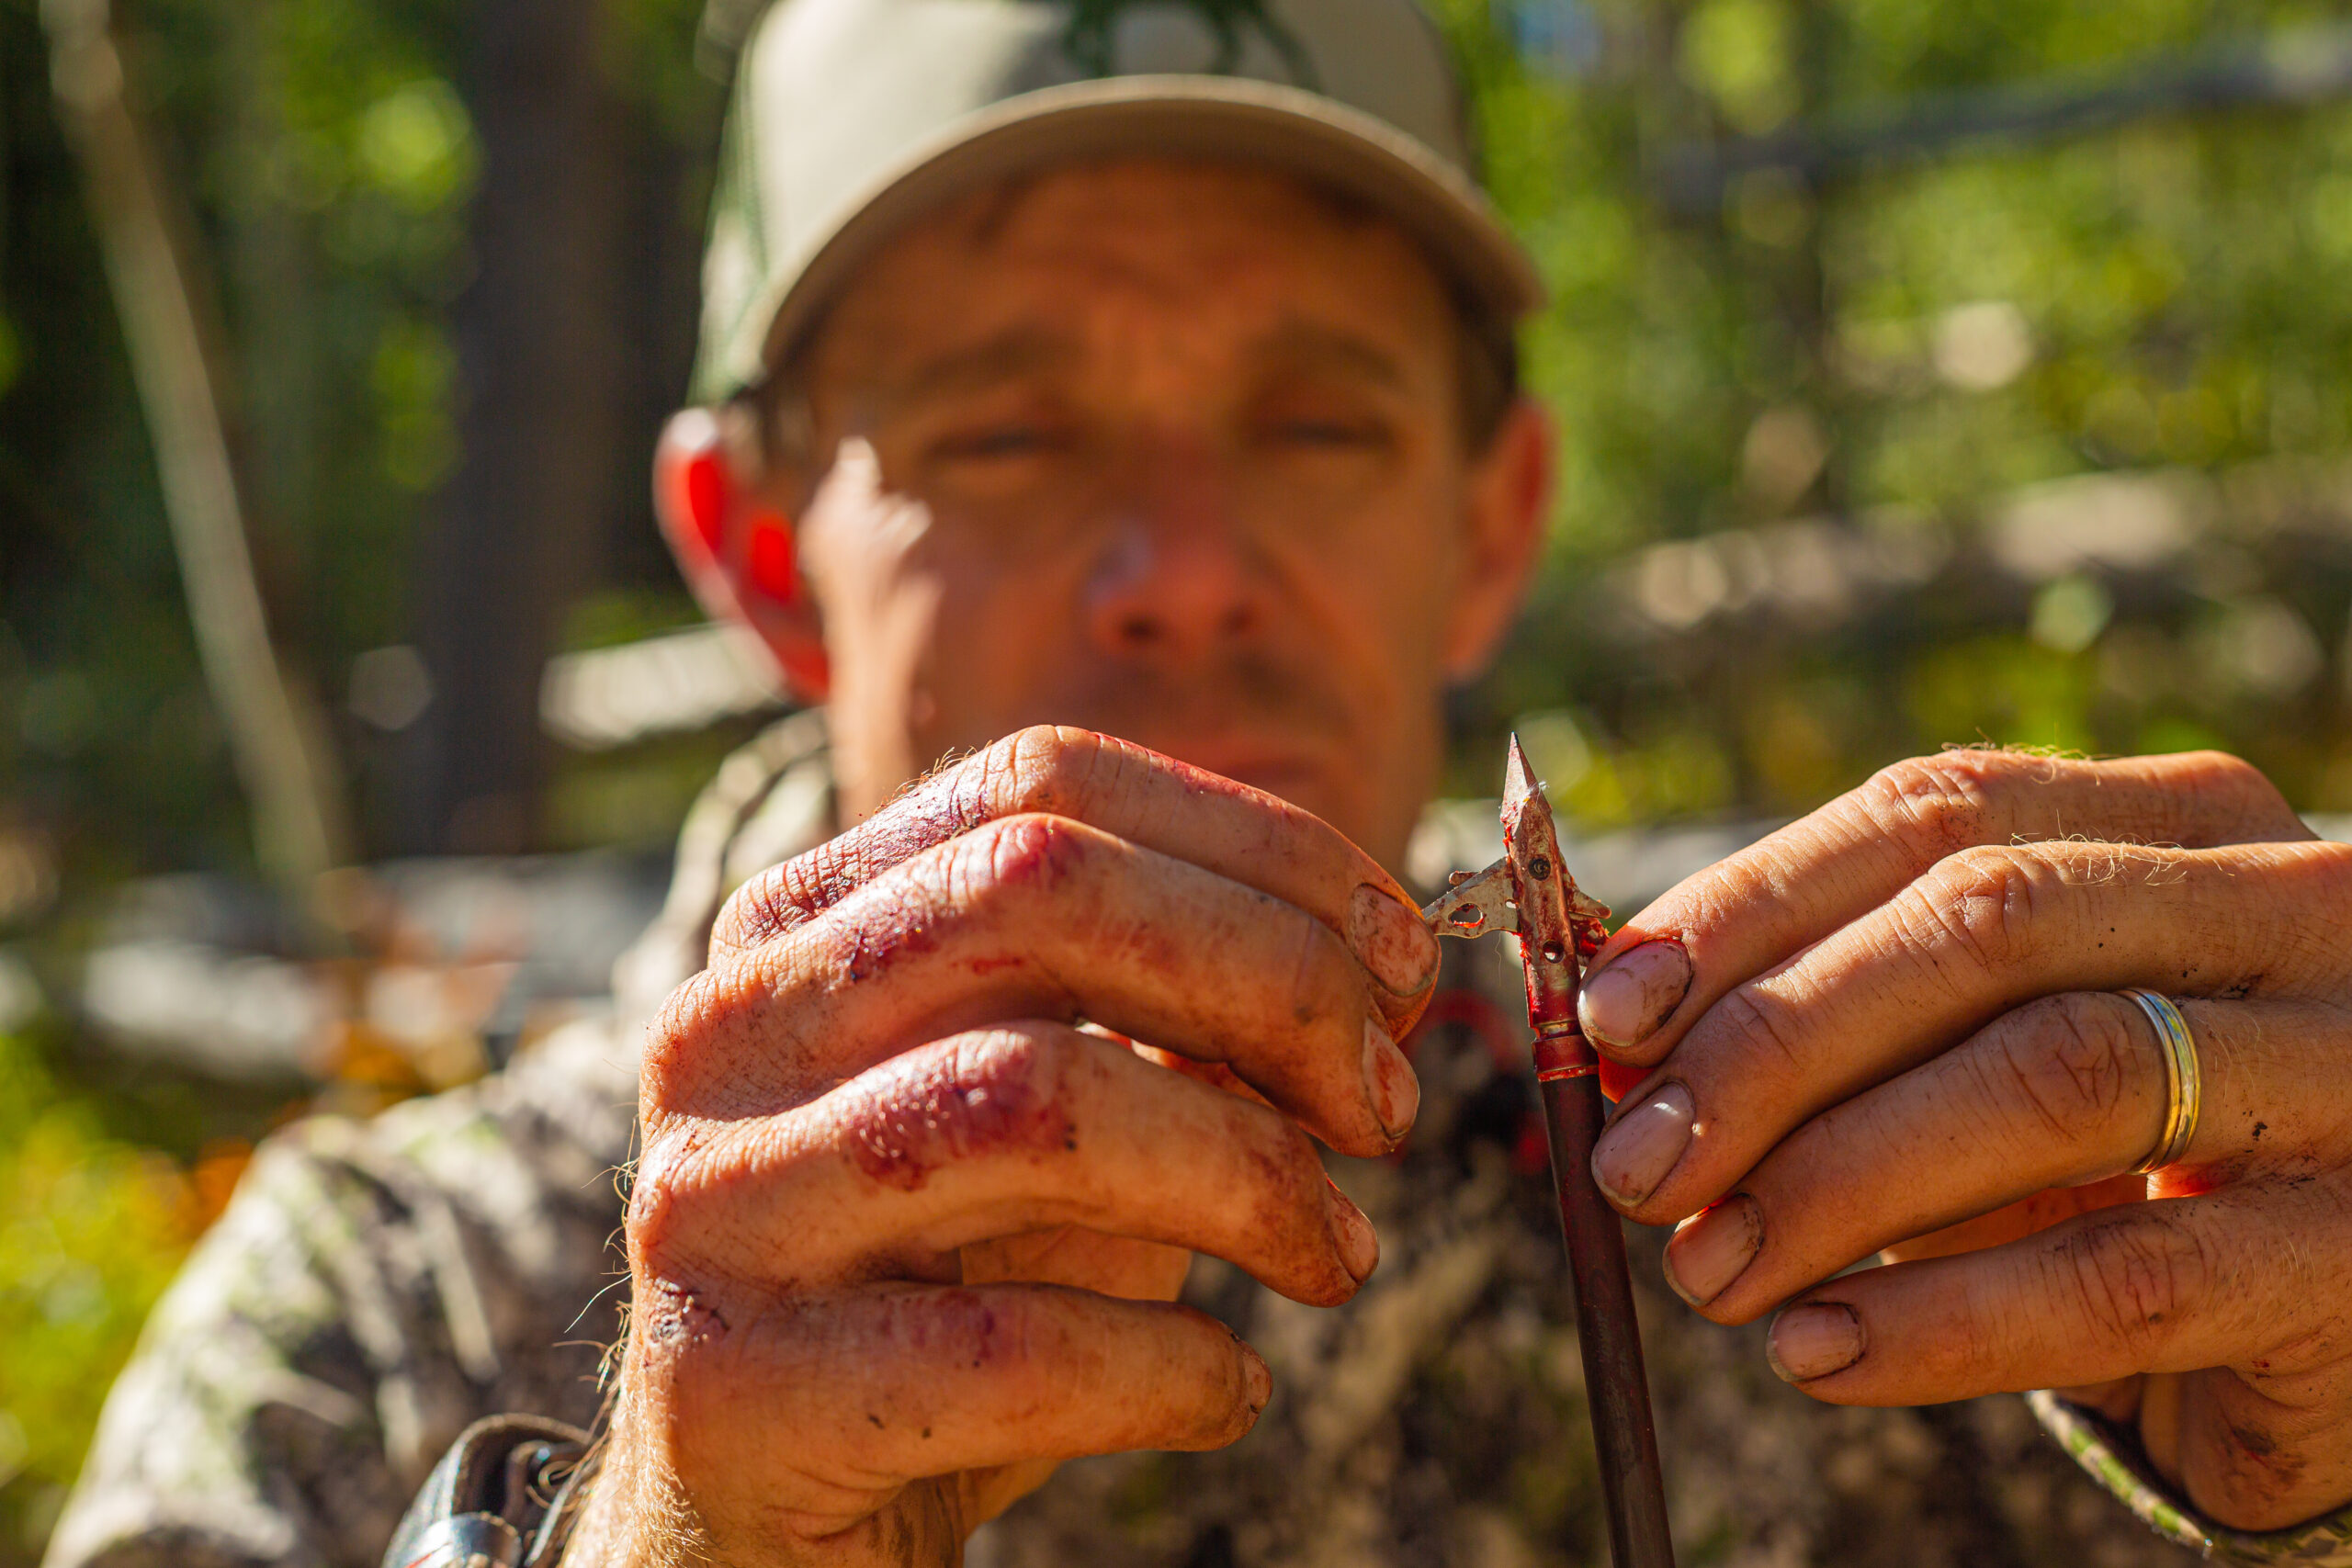
[(703, 259), (699, 402), (755, 386), (891, 233), (1056, 162), (1268, 162), (1402, 223), (1465, 303), (1541, 303), (1414, 0), (724, 0), (750, 9)]

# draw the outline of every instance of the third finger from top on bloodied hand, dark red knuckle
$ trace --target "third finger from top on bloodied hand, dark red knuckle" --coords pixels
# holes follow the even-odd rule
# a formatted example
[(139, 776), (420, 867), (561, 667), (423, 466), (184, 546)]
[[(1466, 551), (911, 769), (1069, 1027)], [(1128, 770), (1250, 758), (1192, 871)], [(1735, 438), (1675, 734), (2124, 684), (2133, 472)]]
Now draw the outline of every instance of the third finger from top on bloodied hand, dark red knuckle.
[(637, 1190), (630, 1232), (661, 1272), (750, 1255), (795, 1293), (936, 1276), (1061, 1225), (1211, 1253), (1312, 1305), (1378, 1262), (1289, 1117), (1049, 1023), (920, 1046), (781, 1117), (668, 1128)]

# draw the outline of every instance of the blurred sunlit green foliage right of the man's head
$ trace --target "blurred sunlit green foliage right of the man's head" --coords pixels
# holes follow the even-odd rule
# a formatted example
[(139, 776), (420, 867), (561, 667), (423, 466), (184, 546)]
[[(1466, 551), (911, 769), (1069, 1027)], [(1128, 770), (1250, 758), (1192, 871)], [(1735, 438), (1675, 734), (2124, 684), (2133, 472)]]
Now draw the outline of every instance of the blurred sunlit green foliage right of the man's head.
[[(1550, 574), (1463, 703), (1454, 788), (1491, 790), (1501, 729), (1538, 712), (1576, 729), (1552, 783), (1588, 827), (1802, 811), (1966, 741), (2227, 745), (2307, 809), (2352, 806), (2340, 505), (2281, 529), (2225, 496), (2161, 569), (1971, 569), (2018, 487), (2336, 473), (2352, 435), (2352, 106), (1959, 146), (1818, 190), (1766, 169), (1710, 214), (1658, 200), (1675, 150), (1867, 127), (1926, 94), (2119, 82), (2244, 40), (2291, 54), (2331, 7), (1439, 9), (1496, 195), (1552, 287), (1526, 357), (1562, 435)], [(1957, 569), (1835, 616), (1630, 630), (1611, 562), (1795, 517), (1926, 534)], [(2249, 661), (2249, 637), (2277, 656)]]

